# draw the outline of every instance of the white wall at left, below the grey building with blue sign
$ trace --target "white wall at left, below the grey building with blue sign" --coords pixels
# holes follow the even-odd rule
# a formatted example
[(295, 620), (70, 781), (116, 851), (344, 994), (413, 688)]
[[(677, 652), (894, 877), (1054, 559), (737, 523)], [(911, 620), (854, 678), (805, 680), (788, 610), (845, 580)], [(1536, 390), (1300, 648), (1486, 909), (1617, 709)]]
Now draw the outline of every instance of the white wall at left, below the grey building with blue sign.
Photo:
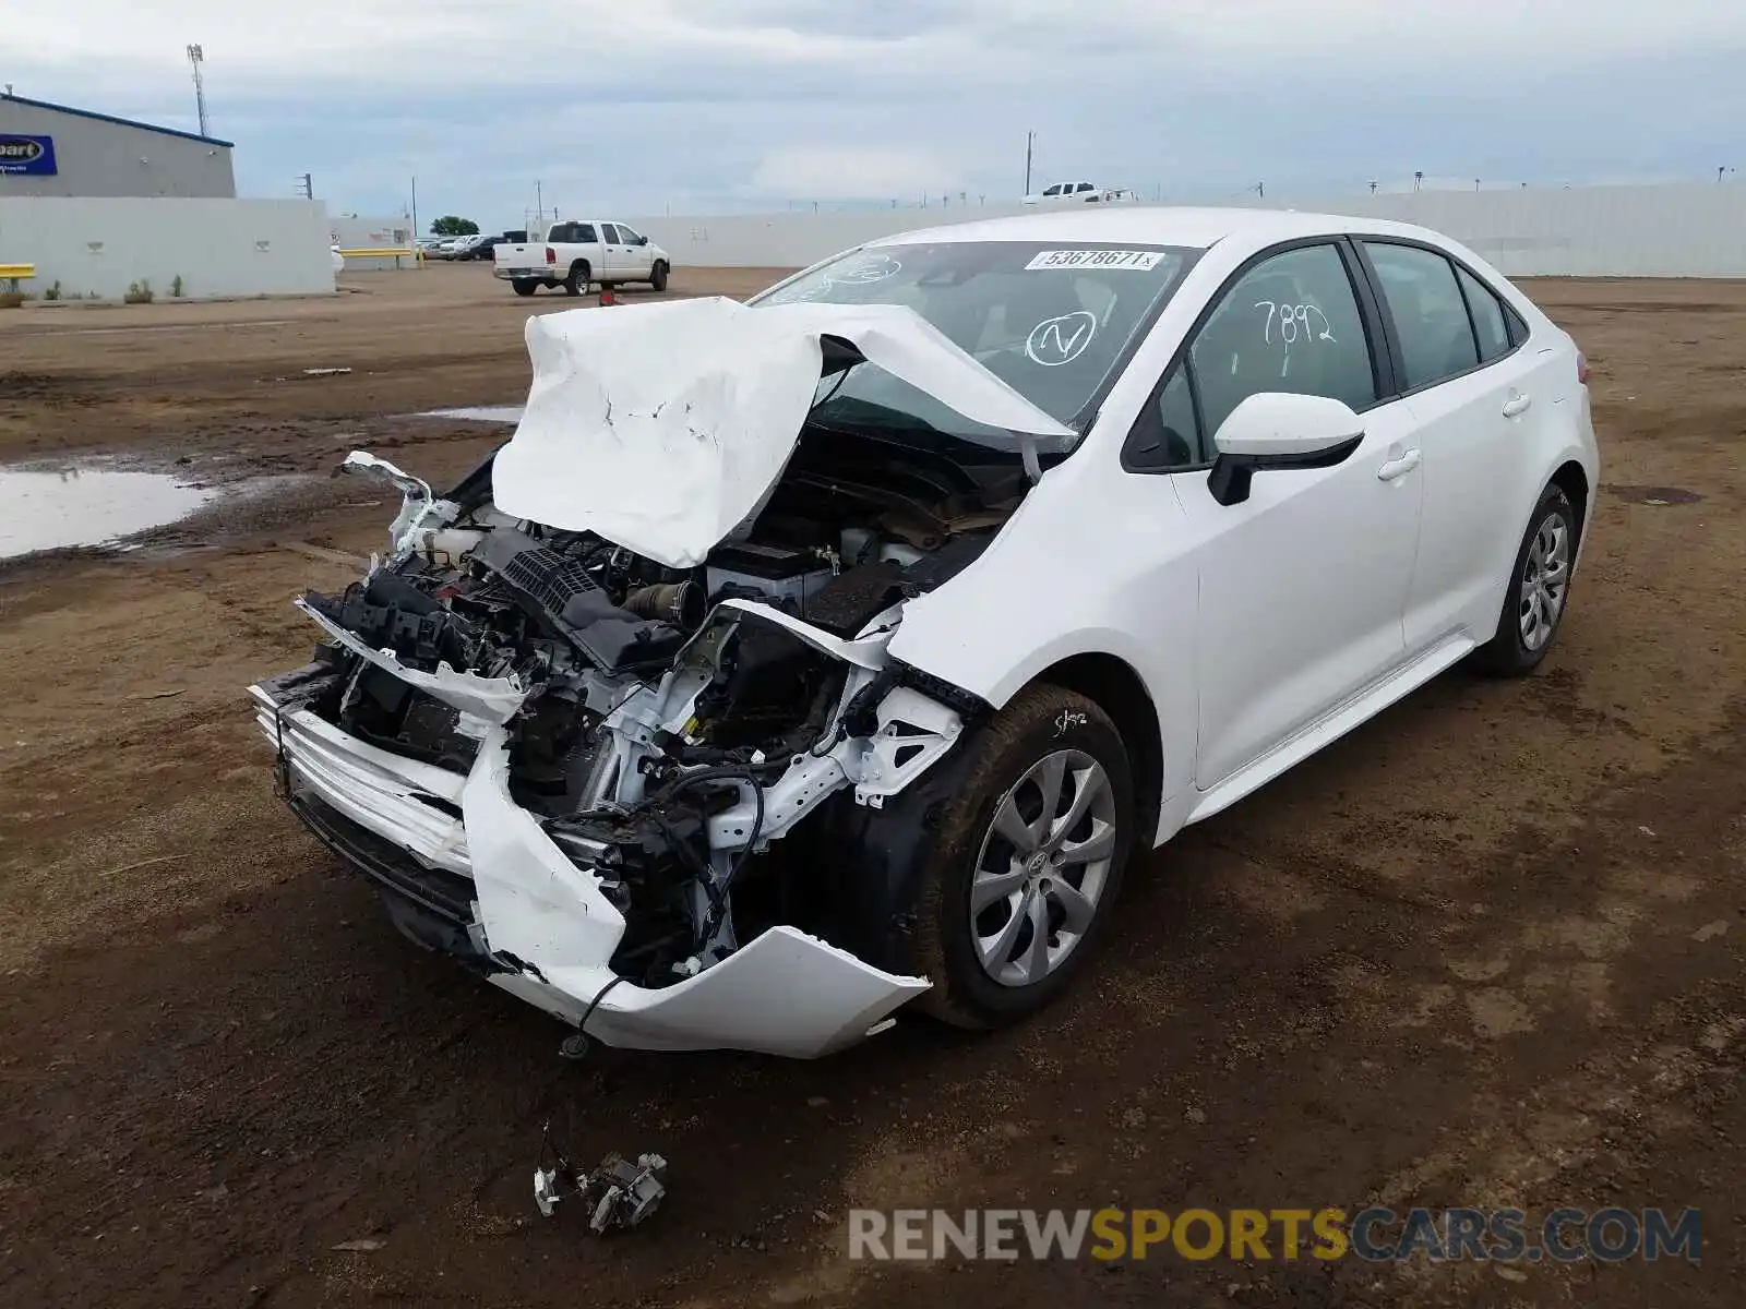
[(28, 290), (120, 298), (150, 283), (168, 298), (333, 291), (320, 201), (0, 199), (0, 264), (35, 264)]

